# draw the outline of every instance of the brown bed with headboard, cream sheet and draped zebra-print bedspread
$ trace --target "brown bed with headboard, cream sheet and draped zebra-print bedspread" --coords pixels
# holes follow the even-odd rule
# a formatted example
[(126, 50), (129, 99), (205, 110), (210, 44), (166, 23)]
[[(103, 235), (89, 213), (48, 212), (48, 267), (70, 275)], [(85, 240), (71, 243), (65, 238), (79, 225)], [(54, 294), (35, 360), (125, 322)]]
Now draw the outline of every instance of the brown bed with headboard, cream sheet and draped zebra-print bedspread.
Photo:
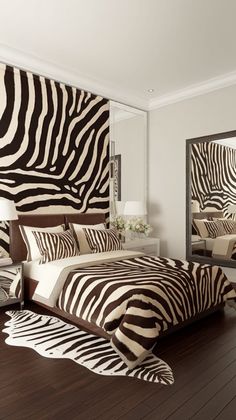
[[(26, 259), (19, 225), (48, 228), (104, 222), (99, 213), (20, 215), (10, 225), (11, 257), (14, 261)], [(109, 338), (129, 368), (146, 357), (158, 337), (236, 297), (219, 267), (120, 249), (45, 264), (29, 261), (24, 271), (26, 298)]]

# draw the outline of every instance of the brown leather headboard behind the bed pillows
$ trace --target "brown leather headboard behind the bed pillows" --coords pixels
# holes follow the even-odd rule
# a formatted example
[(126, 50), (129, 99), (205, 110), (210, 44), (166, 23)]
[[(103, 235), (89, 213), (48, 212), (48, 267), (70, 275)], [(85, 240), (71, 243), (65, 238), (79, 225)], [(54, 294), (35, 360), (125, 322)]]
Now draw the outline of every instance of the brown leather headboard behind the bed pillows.
[(13, 261), (24, 261), (27, 250), (19, 225), (50, 227), (68, 225), (68, 222), (80, 224), (104, 223), (104, 213), (71, 213), (71, 214), (19, 214), (18, 220), (10, 222), (10, 256)]

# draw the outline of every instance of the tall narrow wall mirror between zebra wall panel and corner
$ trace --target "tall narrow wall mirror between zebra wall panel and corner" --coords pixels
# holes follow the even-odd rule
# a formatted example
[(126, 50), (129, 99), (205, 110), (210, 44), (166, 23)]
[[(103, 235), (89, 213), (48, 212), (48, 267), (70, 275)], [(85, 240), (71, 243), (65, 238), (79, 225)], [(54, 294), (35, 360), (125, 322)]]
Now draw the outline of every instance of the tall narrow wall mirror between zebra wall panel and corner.
[(110, 103), (111, 213), (117, 202), (146, 203), (147, 113)]

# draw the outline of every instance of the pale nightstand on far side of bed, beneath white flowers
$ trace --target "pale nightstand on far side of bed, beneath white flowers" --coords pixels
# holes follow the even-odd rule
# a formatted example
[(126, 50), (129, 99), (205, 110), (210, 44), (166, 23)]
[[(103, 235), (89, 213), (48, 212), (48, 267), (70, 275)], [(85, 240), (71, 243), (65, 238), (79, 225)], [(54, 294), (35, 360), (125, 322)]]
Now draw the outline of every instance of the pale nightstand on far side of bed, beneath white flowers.
[(160, 255), (160, 239), (159, 238), (142, 238), (133, 239), (122, 243), (123, 249), (143, 252), (147, 255), (157, 257)]

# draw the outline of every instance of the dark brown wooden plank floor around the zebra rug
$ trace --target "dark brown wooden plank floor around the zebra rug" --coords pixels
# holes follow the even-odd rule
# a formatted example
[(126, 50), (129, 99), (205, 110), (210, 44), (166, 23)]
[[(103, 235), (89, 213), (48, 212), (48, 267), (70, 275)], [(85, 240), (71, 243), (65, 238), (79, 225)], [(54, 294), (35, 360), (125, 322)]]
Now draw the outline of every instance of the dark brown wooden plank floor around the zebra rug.
[(162, 339), (156, 352), (173, 368), (172, 386), (99, 376), (70, 360), (7, 346), (5, 338), (0, 332), (1, 420), (236, 419), (234, 309)]

